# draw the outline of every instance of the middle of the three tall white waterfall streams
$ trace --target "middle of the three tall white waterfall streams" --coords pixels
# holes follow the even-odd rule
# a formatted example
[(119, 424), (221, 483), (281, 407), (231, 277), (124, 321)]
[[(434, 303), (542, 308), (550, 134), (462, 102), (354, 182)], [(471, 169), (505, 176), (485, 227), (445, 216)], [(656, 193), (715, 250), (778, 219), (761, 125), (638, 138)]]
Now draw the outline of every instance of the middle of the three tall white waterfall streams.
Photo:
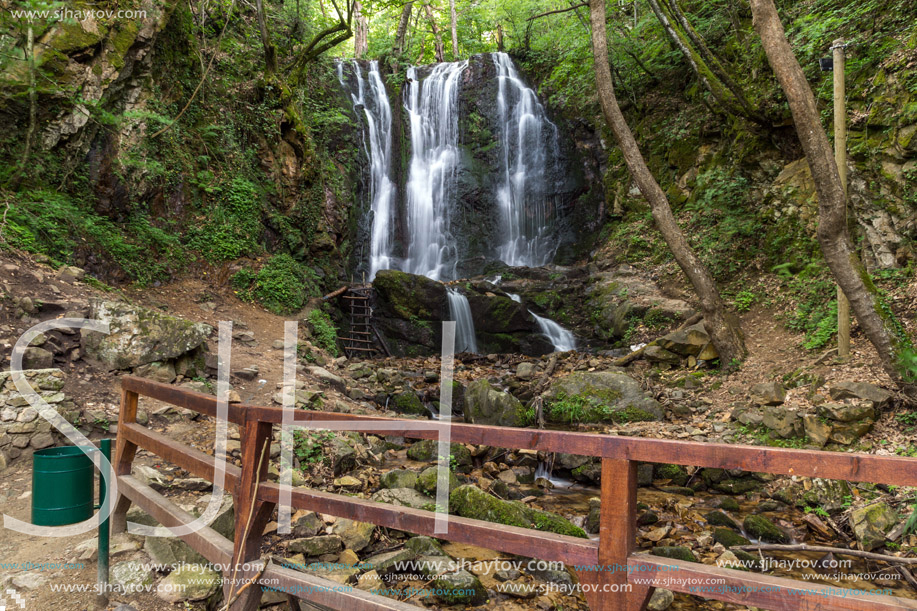
[(411, 125), (411, 163), (404, 271), (434, 280), (454, 279), (458, 262), (450, 209), (459, 160), (459, 78), (467, 66), (467, 61), (437, 64), (423, 81), (418, 80), (416, 68), (407, 71), (405, 109)]

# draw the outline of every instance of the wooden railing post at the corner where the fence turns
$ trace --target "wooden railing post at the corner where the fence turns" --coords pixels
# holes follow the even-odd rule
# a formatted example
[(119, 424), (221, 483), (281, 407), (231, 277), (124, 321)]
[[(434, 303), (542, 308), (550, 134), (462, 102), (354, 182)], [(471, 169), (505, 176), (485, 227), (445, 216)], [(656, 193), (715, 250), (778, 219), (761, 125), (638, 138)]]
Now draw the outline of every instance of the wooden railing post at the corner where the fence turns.
[(271, 439), (269, 422), (247, 420), (242, 427), (242, 477), (233, 493), (235, 538), (232, 566), (229, 574), (223, 575), (225, 602), (235, 597), (230, 611), (257, 611), (261, 603), (261, 586), (255, 583), (245, 587), (258, 571), (245, 565), (260, 557), (262, 533), (274, 511), (274, 503), (258, 499), (257, 489), (258, 483), (264, 482), (267, 477)]

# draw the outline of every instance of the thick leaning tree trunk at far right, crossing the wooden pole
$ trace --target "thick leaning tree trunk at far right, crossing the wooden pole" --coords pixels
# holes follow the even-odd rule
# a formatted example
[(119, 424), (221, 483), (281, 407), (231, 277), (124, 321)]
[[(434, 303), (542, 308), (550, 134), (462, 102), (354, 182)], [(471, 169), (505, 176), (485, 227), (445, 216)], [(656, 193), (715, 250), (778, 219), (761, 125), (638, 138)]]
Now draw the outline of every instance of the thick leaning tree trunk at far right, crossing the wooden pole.
[(844, 187), (815, 106), (815, 96), (786, 39), (773, 1), (751, 0), (751, 10), (768, 62), (790, 103), (796, 133), (812, 171), (818, 195), (818, 243), (825, 261), (850, 301), (857, 322), (876, 347), (882, 367), (911, 400), (917, 400), (917, 385), (905, 380), (899, 369), (901, 352), (908, 347), (908, 339), (895, 334), (894, 314), (879, 300), (847, 234)]

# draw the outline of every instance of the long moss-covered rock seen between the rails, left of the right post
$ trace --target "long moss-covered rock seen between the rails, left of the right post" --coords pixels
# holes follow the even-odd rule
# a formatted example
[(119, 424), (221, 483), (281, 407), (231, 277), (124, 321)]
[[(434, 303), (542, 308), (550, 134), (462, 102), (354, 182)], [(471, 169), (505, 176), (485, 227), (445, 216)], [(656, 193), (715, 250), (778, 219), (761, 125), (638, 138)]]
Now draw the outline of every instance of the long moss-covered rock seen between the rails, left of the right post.
[(572, 537), (586, 538), (583, 529), (547, 511), (516, 501), (504, 501), (475, 486), (459, 486), (449, 495), (449, 511), (456, 515), (508, 526), (534, 528)]

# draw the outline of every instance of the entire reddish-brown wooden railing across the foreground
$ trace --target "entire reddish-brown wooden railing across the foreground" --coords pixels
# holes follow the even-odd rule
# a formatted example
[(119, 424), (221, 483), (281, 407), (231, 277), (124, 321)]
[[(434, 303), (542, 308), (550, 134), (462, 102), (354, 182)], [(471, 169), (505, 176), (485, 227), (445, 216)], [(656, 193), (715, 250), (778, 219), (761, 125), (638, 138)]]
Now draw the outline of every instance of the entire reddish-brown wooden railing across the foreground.
[[(213, 480), (214, 460), (136, 422), (139, 396), (215, 416), (215, 397), (150, 380), (122, 378), (121, 411), (114, 460), (119, 498), (112, 518), (113, 529), (123, 530), (125, 514), (131, 503), (150, 513), (165, 526), (189, 522), (192, 518), (167, 498), (130, 475), (131, 462), (138, 448), (159, 455), (192, 474)], [(230, 605), (231, 611), (258, 608), (261, 588), (257, 584), (288, 593), (291, 605), (305, 599), (334, 609), (416, 611), (419, 607), (311, 576), (258, 560), (261, 533), (280, 500), (280, 487), (266, 482), (267, 463), (259, 458), (272, 439), (272, 427), (283, 422), (279, 407), (230, 404), (228, 420), (239, 425), (242, 468), (226, 464), (226, 489), (235, 503), (235, 541), (222, 538), (210, 528), (182, 538), (209, 561), (222, 565), (249, 563), (235, 576), (237, 583), (256, 581), (243, 590)], [(505, 526), (480, 520), (449, 518), (448, 533), (434, 532), (435, 514), (430, 511), (396, 507), (309, 488), (294, 488), (291, 504), (295, 508), (371, 522), (389, 528), (440, 539), (471, 543), (496, 551), (519, 554), (547, 561), (562, 561), (573, 566), (590, 608), (597, 611), (639, 610), (646, 606), (655, 587), (664, 587), (703, 598), (758, 607), (761, 609), (917, 609), (917, 600), (862, 593), (741, 570), (720, 568), (694, 562), (660, 558), (635, 550), (637, 518), (637, 462), (665, 462), (700, 467), (744, 469), (782, 475), (799, 475), (869, 481), (899, 486), (917, 486), (917, 459), (814, 450), (708, 444), (575, 433), (482, 426), (471, 424), (431, 425), (429, 430), (414, 430), (416, 420), (358, 416), (354, 414), (299, 411), (294, 424), (321, 421), (361, 423), (360, 432), (431, 439), (439, 434), (436, 426), (449, 426), (453, 442), (487, 444), (502, 448), (572, 452), (602, 459), (601, 516), (599, 540), (580, 539), (533, 529)], [(380, 429), (367, 430), (372, 422), (384, 423)], [(393, 429), (392, 423), (405, 423)], [(251, 515), (251, 524), (246, 530)], [(243, 536), (244, 533), (248, 536)], [(226, 577), (226, 575), (224, 575)], [(230, 579), (224, 585), (228, 598)], [(279, 584), (279, 585), (278, 585)], [(705, 584), (698, 591), (698, 584)], [(238, 592), (239, 587), (235, 588)], [(293, 607), (298, 609), (298, 606)]]

